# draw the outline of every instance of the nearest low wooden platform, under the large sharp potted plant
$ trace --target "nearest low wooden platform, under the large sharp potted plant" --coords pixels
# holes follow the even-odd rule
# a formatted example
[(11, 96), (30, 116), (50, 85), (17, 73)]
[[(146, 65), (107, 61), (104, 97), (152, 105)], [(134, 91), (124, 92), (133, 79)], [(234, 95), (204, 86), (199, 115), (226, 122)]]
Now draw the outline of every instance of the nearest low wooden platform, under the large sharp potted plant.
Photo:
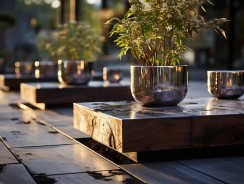
[(186, 99), (175, 107), (75, 103), (74, 127), (118, 152), (244, 144), (244, 99)]

